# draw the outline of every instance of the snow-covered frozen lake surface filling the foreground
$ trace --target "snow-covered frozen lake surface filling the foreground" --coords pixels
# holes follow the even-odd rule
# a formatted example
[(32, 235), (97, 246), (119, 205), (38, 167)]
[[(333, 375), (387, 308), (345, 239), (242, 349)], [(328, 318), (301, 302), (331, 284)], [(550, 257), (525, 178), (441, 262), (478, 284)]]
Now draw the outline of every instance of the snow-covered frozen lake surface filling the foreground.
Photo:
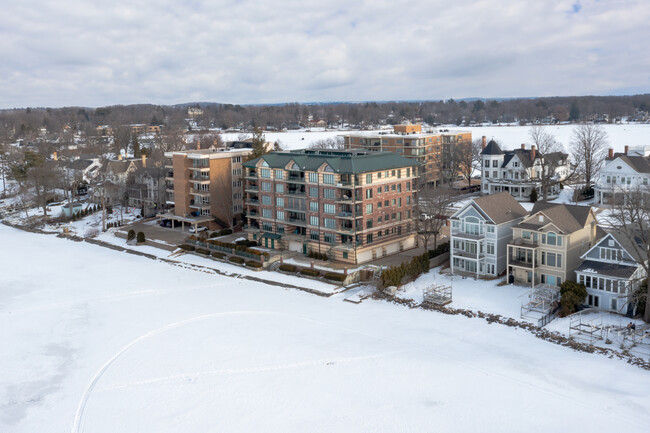
[[(0, 226), (2, 432), (645, 431), (650, 374), (521, 329)], [(305, 285), (310, 284), (305, 280)]]

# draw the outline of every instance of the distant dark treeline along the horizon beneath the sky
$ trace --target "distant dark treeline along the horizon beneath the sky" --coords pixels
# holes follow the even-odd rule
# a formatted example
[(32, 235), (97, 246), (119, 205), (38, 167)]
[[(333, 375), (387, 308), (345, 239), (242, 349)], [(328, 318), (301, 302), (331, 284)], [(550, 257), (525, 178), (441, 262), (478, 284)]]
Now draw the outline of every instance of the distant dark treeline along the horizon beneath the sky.
[[(199, 108), (191, 110), (188, 108)], [(99, 108), (21, 108), (0, 110), (0, 138), (29, 138), (41, 133), (68, 131), (95, 134), (99, 125), (162, 124), (168, 129), (296, 128), (316, 122), (359, 127), (394, 124), (404, 120), (428, 124), (564, 122), (621, 117), (648, 120), (650, 94), (580, 96), (506, 100), (364, 102), (332, 104), (232, 105), (218, 103), (114, 105)], [(191, 117), (191, 121), (188, 119)]]

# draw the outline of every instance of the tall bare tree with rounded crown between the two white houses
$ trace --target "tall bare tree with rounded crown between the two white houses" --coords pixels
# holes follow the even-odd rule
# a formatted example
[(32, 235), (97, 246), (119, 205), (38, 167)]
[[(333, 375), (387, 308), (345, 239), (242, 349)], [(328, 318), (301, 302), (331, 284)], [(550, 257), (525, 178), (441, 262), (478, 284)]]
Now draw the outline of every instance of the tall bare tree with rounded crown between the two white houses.
[(585, 188), (591, 188), (607, 155), (607, 132), (602, 126), (582, 123), (573, 128), (571, 154), (576, 164), (577, 175), (585, 181)]

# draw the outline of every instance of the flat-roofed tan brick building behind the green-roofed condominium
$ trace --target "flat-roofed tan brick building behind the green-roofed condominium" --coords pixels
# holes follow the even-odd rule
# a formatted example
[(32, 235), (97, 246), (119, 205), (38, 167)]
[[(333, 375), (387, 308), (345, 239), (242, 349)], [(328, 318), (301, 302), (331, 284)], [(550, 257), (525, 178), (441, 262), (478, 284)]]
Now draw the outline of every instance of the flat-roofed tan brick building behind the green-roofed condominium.
[[(344, 135), (346, 149), (369, 152), (389, 151), (419, 164), (420, 181), (440, 184), (448, 174), (447, 164), (455, 146), (471, 146), (472, 133), (432, 130), (422, 132), (421, 125), (395, 125), (393, 132), (355, 132)], [(456, 180), (456, 179), (451, 179)]]

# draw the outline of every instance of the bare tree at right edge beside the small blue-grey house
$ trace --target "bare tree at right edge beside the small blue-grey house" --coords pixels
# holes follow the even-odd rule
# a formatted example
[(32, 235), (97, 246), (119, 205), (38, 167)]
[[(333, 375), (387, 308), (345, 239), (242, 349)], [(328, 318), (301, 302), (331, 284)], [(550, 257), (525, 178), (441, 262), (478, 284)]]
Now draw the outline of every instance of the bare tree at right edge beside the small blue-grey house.
[[(643, 320), (650, 322), (650, 188), (638, 187), (621, 190), (614, 196), (609, 223), (618, 230), (634, 249), (637, 264), (645, 271), (645, 293), (637, 293), (640, 301), (645, 295)], [(643, 284), (641, 284), (643, 286)]]

